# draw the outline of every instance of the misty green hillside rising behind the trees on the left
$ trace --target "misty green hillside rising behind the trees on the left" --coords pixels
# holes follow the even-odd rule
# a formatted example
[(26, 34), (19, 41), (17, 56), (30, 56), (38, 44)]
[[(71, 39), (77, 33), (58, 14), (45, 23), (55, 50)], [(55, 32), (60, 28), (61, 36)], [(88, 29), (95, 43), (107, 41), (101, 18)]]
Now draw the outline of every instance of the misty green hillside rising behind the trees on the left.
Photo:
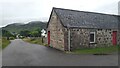
[(36, 29), (46, 29), (46, 24), (47, 24), (46, 22), (31, 21), (27, 24), (22, 24), (22, 23), (9, 24), (6, 27), (3, 27), (2, 29), (5, 29), (10, 32), (19, 33), (20, 31), (23, 30), (33, 31)]

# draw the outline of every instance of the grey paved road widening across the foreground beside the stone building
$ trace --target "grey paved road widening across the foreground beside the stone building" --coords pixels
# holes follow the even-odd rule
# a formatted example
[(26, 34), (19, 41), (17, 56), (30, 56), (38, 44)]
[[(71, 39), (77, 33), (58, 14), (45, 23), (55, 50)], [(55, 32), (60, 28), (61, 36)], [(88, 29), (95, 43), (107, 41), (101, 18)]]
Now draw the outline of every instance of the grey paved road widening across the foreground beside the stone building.
[(117, 66), (118, 55), (65, 54), (15, 39), (2, 52), (3, 66)]

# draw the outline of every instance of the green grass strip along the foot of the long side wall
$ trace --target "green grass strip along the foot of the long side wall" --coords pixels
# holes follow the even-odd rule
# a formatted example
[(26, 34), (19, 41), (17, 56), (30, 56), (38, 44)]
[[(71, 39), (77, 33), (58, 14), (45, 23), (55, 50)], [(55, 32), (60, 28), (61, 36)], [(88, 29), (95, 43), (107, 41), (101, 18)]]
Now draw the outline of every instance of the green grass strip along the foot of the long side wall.
[(84, 48), (73, 50), (75, 54), (110, 54), (118, 51), (118, 46), (101, 47), (101, 48)]

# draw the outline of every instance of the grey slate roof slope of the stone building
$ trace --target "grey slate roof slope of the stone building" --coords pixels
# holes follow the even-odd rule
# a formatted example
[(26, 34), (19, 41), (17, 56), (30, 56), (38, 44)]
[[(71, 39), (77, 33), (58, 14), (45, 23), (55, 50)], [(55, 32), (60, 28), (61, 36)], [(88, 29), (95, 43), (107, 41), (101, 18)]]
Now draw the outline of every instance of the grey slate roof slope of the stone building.
[[(120, 17), (102, 13), (53, 8), (61, 23), (69, 28), (101, 28), (116, 29)], [(118, 20), (119, 17), (119, 20)]]

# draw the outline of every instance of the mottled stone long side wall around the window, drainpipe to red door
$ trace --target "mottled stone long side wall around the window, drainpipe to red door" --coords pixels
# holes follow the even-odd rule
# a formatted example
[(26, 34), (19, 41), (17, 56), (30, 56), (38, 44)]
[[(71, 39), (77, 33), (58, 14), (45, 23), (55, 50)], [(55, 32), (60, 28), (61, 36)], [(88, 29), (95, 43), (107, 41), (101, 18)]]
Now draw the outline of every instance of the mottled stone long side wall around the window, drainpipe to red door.
[[(112, 45), (112, 29), (71, 29), (71, 50), (77, 48), (108, 47)], [(95, 43), (90, 43), (90, 32), (95, 32)]]

